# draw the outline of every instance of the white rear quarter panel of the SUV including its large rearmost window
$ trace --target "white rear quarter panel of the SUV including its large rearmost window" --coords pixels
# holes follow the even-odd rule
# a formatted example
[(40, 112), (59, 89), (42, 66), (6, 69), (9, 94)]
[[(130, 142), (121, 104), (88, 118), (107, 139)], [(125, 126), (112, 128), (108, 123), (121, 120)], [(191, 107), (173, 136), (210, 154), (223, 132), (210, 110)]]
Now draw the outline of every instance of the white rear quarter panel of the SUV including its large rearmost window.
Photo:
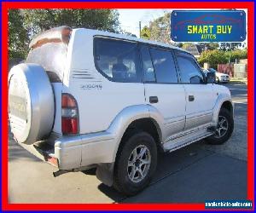
[(78, 101), (80, 134), (108, 130), (126, 107), (145, 104), (137, 43), (102, 36), (93, 43), (86, 31), (77, 36), (68, 89)]

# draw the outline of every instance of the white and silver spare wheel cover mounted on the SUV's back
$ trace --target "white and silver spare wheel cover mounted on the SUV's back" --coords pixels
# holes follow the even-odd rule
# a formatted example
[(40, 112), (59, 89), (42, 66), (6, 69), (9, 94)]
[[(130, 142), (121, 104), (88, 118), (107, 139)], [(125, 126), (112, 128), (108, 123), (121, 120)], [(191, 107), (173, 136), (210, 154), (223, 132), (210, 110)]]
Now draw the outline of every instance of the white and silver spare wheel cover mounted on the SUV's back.
[(55, 117), (54, 94), (42, 66), (20, 64), (9, 72), (9, 124), (16, 141), (44, 140)]

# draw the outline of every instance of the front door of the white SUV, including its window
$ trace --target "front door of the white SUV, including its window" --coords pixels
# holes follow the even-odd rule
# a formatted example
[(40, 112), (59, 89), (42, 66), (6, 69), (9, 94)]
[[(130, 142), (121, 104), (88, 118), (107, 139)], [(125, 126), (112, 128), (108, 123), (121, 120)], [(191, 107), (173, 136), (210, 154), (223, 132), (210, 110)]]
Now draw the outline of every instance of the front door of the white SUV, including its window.
[(180, 81), (184, 85), (186, 96), (186, 124), (184, 130), (209, 125), (212, 122), (214, 105), (212, 83), (205, 78), (195, 58), (187, 53), (176, 51)]

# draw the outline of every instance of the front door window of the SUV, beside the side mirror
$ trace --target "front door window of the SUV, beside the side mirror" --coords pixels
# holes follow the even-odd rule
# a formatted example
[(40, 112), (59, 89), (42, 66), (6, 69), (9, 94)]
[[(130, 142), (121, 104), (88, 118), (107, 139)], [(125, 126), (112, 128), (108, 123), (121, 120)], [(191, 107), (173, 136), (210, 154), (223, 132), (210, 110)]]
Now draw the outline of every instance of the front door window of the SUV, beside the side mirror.
[(182, 83), (202, 83), (203, 76), (194, 59), (177, 56), (177, 65)]

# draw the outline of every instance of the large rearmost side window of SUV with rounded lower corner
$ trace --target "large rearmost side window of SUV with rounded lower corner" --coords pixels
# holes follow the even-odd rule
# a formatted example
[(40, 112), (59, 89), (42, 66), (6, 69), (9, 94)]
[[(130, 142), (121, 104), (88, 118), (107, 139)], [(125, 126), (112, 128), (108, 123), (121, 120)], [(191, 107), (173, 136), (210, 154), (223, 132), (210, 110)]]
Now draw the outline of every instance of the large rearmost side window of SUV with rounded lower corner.
[(95, 63), (99, 72), (114, 82), (141, 82), (137, 43), (95, 38)]

